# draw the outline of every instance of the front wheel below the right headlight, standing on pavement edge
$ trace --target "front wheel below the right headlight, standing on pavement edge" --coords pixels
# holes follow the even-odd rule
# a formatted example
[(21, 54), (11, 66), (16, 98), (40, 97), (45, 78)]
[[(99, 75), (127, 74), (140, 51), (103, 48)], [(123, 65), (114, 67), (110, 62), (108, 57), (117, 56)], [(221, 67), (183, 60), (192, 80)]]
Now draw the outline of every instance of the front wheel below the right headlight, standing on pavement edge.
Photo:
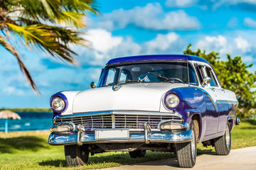
[(196, 164), (196, 132), (193, 121), (191, 121), (190, 129), (193, 132), (193, 140), (175, 145), (178, 165), (181, 168), (192, 168)]

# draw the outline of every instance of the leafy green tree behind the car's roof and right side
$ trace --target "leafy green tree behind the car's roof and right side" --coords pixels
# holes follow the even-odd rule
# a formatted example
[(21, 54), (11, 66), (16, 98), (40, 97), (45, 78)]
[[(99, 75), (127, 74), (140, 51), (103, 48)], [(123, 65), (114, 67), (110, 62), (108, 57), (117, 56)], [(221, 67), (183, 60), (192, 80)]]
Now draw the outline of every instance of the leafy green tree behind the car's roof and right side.
[(222, 61), (218, 52), (213, 51), (206, 54), (205, 50), (202, 52), (200, 49), (193, 52), (191, 45), (188, 45), (183, 53), (196, 55), (210, 62), (218, 75), (221, 86), (235, 92), (239, 102), (238, 115), (241, 118), (250, 115), (250, 110), (256, 103), (256, 71), (254, 74), (248, 71), (252, 64), (246, 65), (240, 56), (232, 58), (227, 55), (228, 60)]

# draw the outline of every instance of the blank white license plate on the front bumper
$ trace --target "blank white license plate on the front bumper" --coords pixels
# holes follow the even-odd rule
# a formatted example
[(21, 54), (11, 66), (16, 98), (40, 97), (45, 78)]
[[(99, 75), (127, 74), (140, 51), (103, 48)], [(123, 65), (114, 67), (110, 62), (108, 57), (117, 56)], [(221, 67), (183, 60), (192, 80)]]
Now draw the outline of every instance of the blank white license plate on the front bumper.
[(95, 130), (95, 140), (129, 139), (129, 129)]

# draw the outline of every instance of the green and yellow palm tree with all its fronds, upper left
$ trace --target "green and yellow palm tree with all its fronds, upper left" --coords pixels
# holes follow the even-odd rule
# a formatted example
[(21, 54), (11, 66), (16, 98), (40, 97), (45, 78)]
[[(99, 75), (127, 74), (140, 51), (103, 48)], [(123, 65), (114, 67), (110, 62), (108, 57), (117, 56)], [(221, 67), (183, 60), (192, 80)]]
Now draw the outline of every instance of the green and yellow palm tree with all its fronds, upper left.
[(14, 35), (26, 47), (38, 47), (60, 60), (75, 64), (71, 45), (83, 45), (80, 35), (85, 16), (97, 14), (94, 0), (0, 0), (0, 45), (18, 61), (21, 72), (36, 94), (40, 94), (30, 72), (9, 41)]

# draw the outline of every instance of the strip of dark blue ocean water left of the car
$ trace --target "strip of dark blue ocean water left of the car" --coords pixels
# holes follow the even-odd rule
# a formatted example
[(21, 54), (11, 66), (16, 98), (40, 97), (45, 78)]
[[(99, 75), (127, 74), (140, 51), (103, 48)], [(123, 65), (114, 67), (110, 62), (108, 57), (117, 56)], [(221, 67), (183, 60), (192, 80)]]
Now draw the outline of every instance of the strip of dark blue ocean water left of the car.
[[(53, 125), (51, 112), (16, 112), (21, 120), (8, 120), (8, 131), (49, 130)], [(0, 119), (0, 132), (4, 131), (5, 119)]]

